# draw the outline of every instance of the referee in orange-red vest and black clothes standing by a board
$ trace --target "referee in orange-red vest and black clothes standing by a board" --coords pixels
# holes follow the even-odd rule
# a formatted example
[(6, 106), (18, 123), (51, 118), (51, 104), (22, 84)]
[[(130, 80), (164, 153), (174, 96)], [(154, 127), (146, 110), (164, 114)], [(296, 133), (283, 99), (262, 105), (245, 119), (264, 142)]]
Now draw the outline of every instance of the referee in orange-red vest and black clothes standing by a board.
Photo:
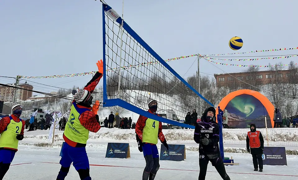
[(258, 162), (260, 172), (263, 172), (262, 154), (264, 150), (264, 139), (262, 133), (256, 130), (255, 124), (251, 124), (251, 131), (247, 132), (246, 149), (252, 155), (254, 171), (258, 171)]

